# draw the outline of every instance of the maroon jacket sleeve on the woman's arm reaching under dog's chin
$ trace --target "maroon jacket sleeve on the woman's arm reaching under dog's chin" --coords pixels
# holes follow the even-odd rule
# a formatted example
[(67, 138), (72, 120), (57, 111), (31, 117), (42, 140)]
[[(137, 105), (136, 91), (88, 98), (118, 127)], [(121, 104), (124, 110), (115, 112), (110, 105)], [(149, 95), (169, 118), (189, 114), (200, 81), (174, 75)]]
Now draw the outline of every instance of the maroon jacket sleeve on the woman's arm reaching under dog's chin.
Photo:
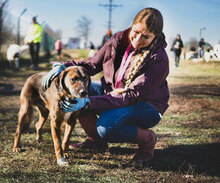
[(90, 109), (114, 109), (146, 100), (166, 81), (169, 73), (168, 58), (155, 60), (145, 73), (139, 75), (124, 93), (90, 96)]

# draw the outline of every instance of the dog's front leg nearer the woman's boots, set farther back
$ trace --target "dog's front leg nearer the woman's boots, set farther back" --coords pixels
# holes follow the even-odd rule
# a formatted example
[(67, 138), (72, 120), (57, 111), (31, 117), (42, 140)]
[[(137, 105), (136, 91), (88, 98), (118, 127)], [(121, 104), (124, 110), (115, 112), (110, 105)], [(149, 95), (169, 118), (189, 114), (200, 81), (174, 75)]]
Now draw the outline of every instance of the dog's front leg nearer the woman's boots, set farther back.
[(68, 158), (67, 152), (69, 149), (70, 136), (72, 134), (75, 124), (76, 124), (76, 118), (70, 118), (68, 122), (66, 122), (66, 128), (65, 128), (64, 138), (62, 142), (63, 154), (65, 158)]

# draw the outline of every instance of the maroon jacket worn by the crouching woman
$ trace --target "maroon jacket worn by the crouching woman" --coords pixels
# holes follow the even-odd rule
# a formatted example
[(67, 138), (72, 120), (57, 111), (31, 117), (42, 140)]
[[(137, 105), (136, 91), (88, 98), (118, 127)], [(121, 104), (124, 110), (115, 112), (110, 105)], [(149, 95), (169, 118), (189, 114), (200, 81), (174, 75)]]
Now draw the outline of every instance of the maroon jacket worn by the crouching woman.
[(105, 95), (90, 96), (90, 109), (106, 110), (124, 107), (138, 101), (146, 101), (163, 114), (168, 108), (169, 89), (166, 78), (169, 73), (169, 60), (165, 51), (167, 46), (162, 34), (151, 54), (144, 60), (128, 91), (111, 94), (114, 89), (115, 73), (120, 67), (124, 52), (129, 44), (129, 29), (117, 32), (92, 58), (76, 62), (68, 61), (65, 65), (83, 66), (89, 74), (95, 75), (103, 71), (101, 83)]

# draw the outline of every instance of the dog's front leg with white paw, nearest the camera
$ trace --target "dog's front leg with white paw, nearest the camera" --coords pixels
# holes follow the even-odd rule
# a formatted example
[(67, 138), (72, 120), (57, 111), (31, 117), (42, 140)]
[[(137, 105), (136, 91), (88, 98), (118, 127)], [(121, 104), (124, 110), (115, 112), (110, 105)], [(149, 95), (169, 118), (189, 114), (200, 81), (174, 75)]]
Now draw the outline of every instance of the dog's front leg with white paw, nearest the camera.
[(63, 150), (61, 147), (60, 125), (61, 124), (57, 120), (51, 119), (51, 133), (53, 137), (57, 164), (60, 166), (66, 166), (68, 165), (68, 162), (63, 157)]

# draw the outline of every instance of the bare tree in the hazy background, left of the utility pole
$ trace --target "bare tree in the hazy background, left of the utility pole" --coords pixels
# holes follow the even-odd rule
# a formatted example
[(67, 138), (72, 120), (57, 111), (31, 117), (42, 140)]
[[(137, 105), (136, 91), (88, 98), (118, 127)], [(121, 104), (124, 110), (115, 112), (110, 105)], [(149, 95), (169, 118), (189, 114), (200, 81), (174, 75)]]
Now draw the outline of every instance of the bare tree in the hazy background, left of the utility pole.
[(85, 16), (82, 16), (79, 20), (77, 20), (76, 31), (78, 33), (78, 36), (83, 37), (85, 39), (85, 48), (87, 47), (87, 42), (89, 38), (90, 25), (91, 21)]

